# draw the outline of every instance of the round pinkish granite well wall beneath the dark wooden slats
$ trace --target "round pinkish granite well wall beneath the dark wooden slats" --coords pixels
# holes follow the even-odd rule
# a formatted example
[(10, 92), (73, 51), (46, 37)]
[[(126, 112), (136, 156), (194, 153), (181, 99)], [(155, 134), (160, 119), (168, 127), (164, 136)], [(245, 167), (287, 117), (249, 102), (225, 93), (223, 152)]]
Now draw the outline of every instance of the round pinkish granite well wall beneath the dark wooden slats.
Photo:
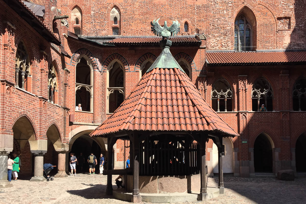
[[(132, 192), (133, 176), (127, 175), (127, 191)], [(140, 193), (200, 192), (200, 174), (192, 176), (139, 176)]]

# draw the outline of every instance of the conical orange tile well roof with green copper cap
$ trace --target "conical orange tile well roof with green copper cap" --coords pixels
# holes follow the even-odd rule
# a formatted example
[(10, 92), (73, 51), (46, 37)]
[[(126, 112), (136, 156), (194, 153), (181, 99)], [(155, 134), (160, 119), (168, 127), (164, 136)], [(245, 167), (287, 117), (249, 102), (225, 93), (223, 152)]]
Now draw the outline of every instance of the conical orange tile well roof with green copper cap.
[(128, 98), (91, 133), (91, 136), (129, 130), (211, 131), (238, 136), (233, 128), (208, 106), (175, 61), (169, 46), (164, 47)]

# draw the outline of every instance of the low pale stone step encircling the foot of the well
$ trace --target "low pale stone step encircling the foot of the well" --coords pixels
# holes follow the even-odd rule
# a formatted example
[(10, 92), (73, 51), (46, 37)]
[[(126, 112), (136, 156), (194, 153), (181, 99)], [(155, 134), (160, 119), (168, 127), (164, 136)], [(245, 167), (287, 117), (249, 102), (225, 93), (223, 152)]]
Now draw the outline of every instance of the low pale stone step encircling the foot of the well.
[[(176, 203), (176, 202), (193, 202), (197, 201), (198, 194), (193, 193), (140, 193), (142, 202), (154, 203)], [(113, 196), (116, 199), (131, 202), (132, 193), (125, 192), (124, 189), (118, 188), (113, 190)], [(207, 187), (207, 199), (217, 198), (219, 196), (218, 188)]]

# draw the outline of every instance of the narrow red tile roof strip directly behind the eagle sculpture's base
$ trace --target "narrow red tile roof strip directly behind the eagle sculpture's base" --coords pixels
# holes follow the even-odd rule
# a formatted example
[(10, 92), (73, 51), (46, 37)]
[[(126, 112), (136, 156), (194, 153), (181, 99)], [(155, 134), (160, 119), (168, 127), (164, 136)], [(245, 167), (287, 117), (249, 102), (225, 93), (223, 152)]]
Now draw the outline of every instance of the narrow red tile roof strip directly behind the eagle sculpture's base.
[[(146, 43), (156, 43), (158, 44), (160, 41), (160, 37), (128, 37), (128, 38), (115, 38), (110, 40), (109, 43), (114, 44), (146, 44)], [(196, 37), (172, 37), (172, 43), (201, 43), (200, 39)]]

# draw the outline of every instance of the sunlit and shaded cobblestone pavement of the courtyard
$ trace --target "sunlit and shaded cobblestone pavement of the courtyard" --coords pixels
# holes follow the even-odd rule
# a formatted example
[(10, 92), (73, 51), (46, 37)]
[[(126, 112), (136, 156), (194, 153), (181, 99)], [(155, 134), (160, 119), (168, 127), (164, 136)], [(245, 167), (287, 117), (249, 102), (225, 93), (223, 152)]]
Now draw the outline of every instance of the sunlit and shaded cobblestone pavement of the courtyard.
[[(113, 176), (113, 180), (115, 178), (116, 176)], [(0, 189), (0, 204), (129, 203), (105, 195), (106, 176), (103, 175), (77, 174), (77, 176), (54, 178), (50, 182), (18, 180), (14, 181), (13, 185), (10, 188)], [(206, 202), (194, 203), (306, 203), (306, 179), (280, 181), (271, 178), (224, 177), (224, 185), (225, 194)], [(218, 178), (209, 178), (208, 186), (218, 186)]]

